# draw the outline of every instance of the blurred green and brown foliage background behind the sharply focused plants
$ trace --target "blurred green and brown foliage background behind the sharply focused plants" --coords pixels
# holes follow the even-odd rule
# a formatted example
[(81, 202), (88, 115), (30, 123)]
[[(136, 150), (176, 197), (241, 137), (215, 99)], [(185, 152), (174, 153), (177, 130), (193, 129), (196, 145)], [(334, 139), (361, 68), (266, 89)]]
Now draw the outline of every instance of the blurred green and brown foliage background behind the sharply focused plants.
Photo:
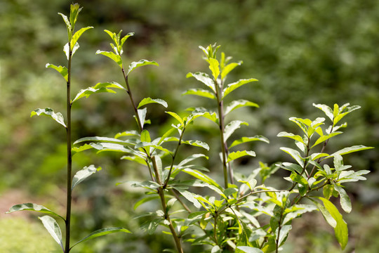
[[(65, 96), (62, 96), (65, 83), (59, 74), (46, 70), (45, 65), (66, 65), (62, 46), (67, 32), (57, 13), (69, 13), (70, 3), (0, 1), (0, 227), (1, 231), (10, 231), (1, 232), (0, 241), (1, 245), (6, 240), (24, 243), (27, 250), (20, 252), (41, 252), (32, 242), (20, 238), (22, 233), (34, 237), (39, 231), (22, 228), (18, 223), (22, 222), (20, 218), (15, 218), (16, 225), (6, 221), (13, 217), (4, 212), (21, 202), (20, 197), (7, 196), (17, 190), (25, 195), (25, 202), (35, 200), (63, 213), (65, 132), (47, 118), (29, 118), (29, 115), (36, 108), (46, 107), (65, 112)], [(268, 145), (251, 144), (258, 158), (236, 164), (242, 172), (248, 173), (259, 161), (272, 164), (288, 160), (279, 150), (287, 143), (276, 135), (279, 131), (295, 131), (288, 117), (323, 117), (312, 103), (329, 106), (350, 103), (362, 107), (347, 117), (345, 134), (333, 138), (329, 150), (358, 144), (378, 148), (379, 2), (376, 0), (87, 0), (79, 4), (84, 9), (77, 27), (94, 26), (95, 29), (86, 32), (79, 41), (81, 48), (74, 56), (73, 65), (73, 95), (98, 82), (122, 83), (117, 65), (104, 56), (96, 56), (95, 51), (110, 50), (104, 29), (123, 30), (125, 34), (135, 32), (124, 48), (126, 63), (146, 58), (160, 65), (143, 67), (131, 75), (130, 84), (137, 100), (147, 96), (162, 98), (168, 102), (166, 110), (182, 115), (189, 106), (211, 107), (206, 99), (180, 94), (200, 86), (194, 79), (185, 78), (187, 72), (207, 71), (198, 46), (217, 42), (228, 56), (244, 61), (232, 72), (232, 79), (254, 77), (260, 81), (234, 93), (234, 98), (252, 100), (260, 108), (239, 109), (227, 119), (243, 118), (250, 124), (243, 131), (270, 139)], [(152, 119), (149, 131), (154, 136), (162, 134), (159, 131), (172, 123), (160, 106), (150, 106), (148, 117)], [(213, 137), (218, 131), (216, 128), (213, 131), (209, 124), (201, 122), (187, 133), (187, 138), (199, 138), (217, 148), (218, 141)], [(74, 105), (73, 126), (73, 138), (77, 139), (114, 136), (135, 129), (135, 122), (126, 94), (99, 94)], [(193, 152), (182, 151), (183, 155)], [(217, 172), (220, 167), (217, 153), (213, 155), (207, 166)], [(133, 219), (143, 209), (154, 209), (142, 205), (133, 210), (142, 191), (127, 183), (116, 186), (117, 182), (143, 179), (147, 171), (131, 162), (120, 161), (116, 155), (84, 153), (74, 157), (77, 169), (92, 163), (103, 169), (74, 193), (74, 227), (81, 228), (74, 229), (74, 238), (82, 238), (88, 231), (104, 226), (124, 226), (134, 233), (98, 238), (77, 252), (117, 253), (126, 249), (161, 252), (170, 247), (171, 238), (161, 233), (145, 235), (139, 229), (142, 221)], [(379, 232), (377, 150), (347, 155), (345, 164), (353, 164), (356, 170), (371, 170), (366, 182), (348, 189), (354, 208), (352, 214), (345, 216), (351, 235), (345, 252), (354, 248), (356, 252), (378, 252), (375, 240)], [(286, 175), (285, 171), (277, 174)], [(281, 178), (272, 182), (279, 187)], [(39, 223), (35, 217), (29, 219), (29, 215), (34, 216), (29, 213), (23, 216), (26, 223)], [(305, 222), (314, 219), (313, 216), (307, 217), (296, 221), (298, 226), (294, 225), (293, 233), (299, 236), (292, 235), (284, 251), (338, 251), (326, 222), (321, 220), (314, 228)], [(20, 229), (11, 230), (17, 226)], [(52, 241), (46, 240), (46, 245)], [(191, 251), (197, 249), (192, 247)]]

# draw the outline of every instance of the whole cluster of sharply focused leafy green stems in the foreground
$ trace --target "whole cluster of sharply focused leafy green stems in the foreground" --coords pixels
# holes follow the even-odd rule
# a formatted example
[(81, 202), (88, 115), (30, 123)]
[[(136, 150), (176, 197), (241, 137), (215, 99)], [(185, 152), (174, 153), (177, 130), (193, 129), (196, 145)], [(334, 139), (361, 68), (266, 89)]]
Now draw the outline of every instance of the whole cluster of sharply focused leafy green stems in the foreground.
[[(229, 95), (232, 91), (245, 84), (258, 81), (253, 78), (240, 79), (237, 82), (226, 84), (228, 74), (235, 67), (241, 65), (241, 62), (230, 63), (231, 58), (226, 57), (225, 53), (221, 53), (220, 59), (218, 59), (220, 46), (200, 47), (205, 53), (204, 59), (208, 63), (211, 75), (204, 72), (187, 74), (187, 77), (194, 77), (205, 84), (206, 89), (189, 89), (184, 94), (209, 98), (215, 102), (215, 107), (189, 108), (185, 117), (180, 116), (181, 113), (167, 111), (166, 113), (173, 118), (175, 123), (171, 124), (171, 127), (163, 135), (155, 137), (157, 134), (149, 131), (147, 126), (152, 122), (147, 119), (146, 105), (160, 104), (167, 108), (168, 104), (159, 98), (149, 97), (136, 103), (132, 92), (134, 89), (131, 89), (132, 86), (128, 80), (129, 74), (138, 67), (158, 64), (150, 60), (139, 60), (128, 65), (126, 70), (121, 56), (126, 40), (133, 36), (133, 33), (121, 37), (121, 31), (117, 34), (105, 30), (112, 39), (110, 46), (113, 51), (97, 51), (97, 54), (107, 56), (117, 63), (125, 86), (116, 82), (99, 83), (79, 91), (77, 96), (71, 100), (72, 55), (79, 48), (77, 39), (90, 28), (82, 28), (74, 33), (74, 24), (80, 10), (81, 8), (77, 4), (73, 4), (69, 19), (60, 14), (66, 22), (69, 37), (69, 42), (65, 46), (68, 67), (47, 65), (47, 67), (52, 67), (60, 72), (67, 82), (67, 125), (62, 115), (53, 112), (50, 108), (37, 109), (32, 112), (32, 116), (52, 117), (67, 129), (66, 218), (51, 212), (46, 207), (32, 203), (11, 207), (10, 212), (34, 210), (62, 218), (66, 224), (65, 247), (62, 244), (58, 223), (51, 216), (43, 216), (41, 220), (55, 241), (62, 247), (63, 252), (69, 252), (76, 245), (70, 247), (69, 243), (72, 189), (77, 183), (97, 171), (91, 165), (78, 171), (72, 179), (72, 155), (84, 150), (95, 149), (98, 152), (123, 153), (122, 160), (137, 162), (147, 169), (148, 179), (132, 183), (133, 186), (146, 190), (145, 196), (135, 203), (135, 208), (150, 201), (159, 202), (161, 207), (152, 212), (140, 214), (138, 218), (143, 221), (142, 228), (147, 233), (155, 233), (159, 226), (167, 228), (164, 233), (172, 236), (176, 252), (185, 252), (186, 245), (189, 244), (200, 245), (203, 252), (211, 253), (279, 252), (291, 231), (293, 219), (306, 212), (316, 210), (321, 212), (326, 221), (334, 228), (335, 237), (341, 248), (345, 248), (348, 239), (347, 224), (330, 199), (331, 196), (340, 197), (340, 205), (343, 210), (351, 211), (352, 205), (343, 188), (343, 183), (364, 180), (362, 175), (369, 171), (347, 170), (351, 166), (343, 164), (343, 155), (370, 147), (354, 145), (330, 154), (327, 151), (327, 145), (331, 138), (342, 134), (341, 130), (347, 126), (345, 123), (341, 124), (340, 120), (350, 112), (359, 109), (359, 106), (335, 104), (332, 109), (327, 105), (314, 104), (316, 108), (324, 112), (331, 123), (326, 124), (324, 117), (314, 120), (291, 117), (291, 122), (299, 126), (301, 134), (288, 132), (278, 134), (279, 137), (291, 138), (295, 141), (297, 149), (281, 148), (292, 157), (293, 162), (282, 162), (272, 166), (260, 162), (260, 167), (253, 169), (251, 174), (236, 173), (234, 172), (236, 164), (232, 164), (232, 162), (241, 157), (255, 157), (252, 150), (238, 150), (237, 147), (251, 141), (269, 142), (267, 138), (259, 135), (243, 136), (230, 141), (237, 129), (248, 124), (241, 120), (227, 122), (226, 116), (238, 108), (258, 107), (256, 103), (244, 99), (232, 100), (225, 105), (225, 98), (230, 98)], [(73, 143), (74, 148), (72, 148), (70, 134), (72, 103), (80, 98), (88, 98), (93, 93), (112, 93), (114, 92), (112, 89), (121, 89), (128, 94), (138, 130), (122, 131), (113, 138), (102, 136), (79, 138)], [(213, 174), (208, 173), (210, 168), (197, 164), (199, 158), (208, 159), (205, 153), (194, 153), (181, 159), (182, 144), (218, 153), (215, 147), (210, 147), (203, 141), (187, 140), (186, 130), (192, 127), (199, 117), (210, 119), (219, 129), (220, 174), (222, 174), (223, 184), (219, 183), (217, 178), (213, 179)], [(265, 185), (266, 180), (279, 168), (290, 171), (289, 176), (284, 178), (290, 184), (287, 190)], [(322, 195), (318, 193), (319, 190), (322, 190)], [(119, 231), (128, 233), (124, 228), (105, 228), (91, 233), (79, 242)], [(166, 249), (166, 251), (175, 252), (173, 249)]]

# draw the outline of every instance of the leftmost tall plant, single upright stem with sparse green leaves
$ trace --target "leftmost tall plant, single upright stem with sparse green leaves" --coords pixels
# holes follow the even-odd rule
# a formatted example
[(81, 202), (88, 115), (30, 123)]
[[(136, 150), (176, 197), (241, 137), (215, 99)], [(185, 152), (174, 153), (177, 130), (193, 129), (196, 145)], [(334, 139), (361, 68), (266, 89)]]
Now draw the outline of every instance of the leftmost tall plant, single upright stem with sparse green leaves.
[[(63, 51), (65, 51), (65, 55), (67, 56), (67, 67), (62, 66), (55, 66), (53, 64), (46, 64), (46, 67), (53, 68), (54, 70), (57, 70), (60, 74), (62, 74), (62, 77), (65, 79), (67, 84), (67, 123), (65, 123), (65, 119), (60, 112), (54, 112), (51, 108), (46, 109), (36, 109), (32, 112), (31, 117), (34, 115), (44, 115), (47, 117), (51, 117), (56, 122), (58, 122), (60, 125), (65, 127), (66, 129), (66, 136), (67, 136), (67, 204), (66, 204), (66, 215), (65, 218), (63, 216), (60, 216), (60, 214), (57, 214), (50, 209), (42, 206), (37, 205), (34, 203), (25, 203), (20, 205), (14, 205), (9, 209), (8, 213), (16, 212), (16, 211), (23, 211), (23, 210), (32, 210), (36, 212), (45, 213), (48, 215), (41, 216), (39, 219), (44, 224), (46, 230), (48, 233), (51, 234), (53, 239), (58, 242), (58, 245), (62, 248), (62, 251), (64, 253), (68, 253), (72, 247), (75, 245), (78, 245), (80, 242), (84, 242), (86, 240), (90, 240), (92, 238), (96, 238), (101, 235), (107, 235), (109, 233), (116, 233), (116, 232), (125, 232), (129, 233), (128, 230), (125, 228), (102, 228), (98, 231), (94, 231), (90, 235), (86, 236), (82, 240), (79, 240), (79, 242), (75, 243), (74, 245), (70, 245), (70, 232), (71, 232), (71, 216), (72, 216), (72, 191), (74, 190), (75, 186), (77, 186), (81, 181), (84, 181), (88, 178), (88, 176), (91, 176), (96, 171), (99, 171), (101, 167), (96, 168), (93, 164), (84, 167), (84, 169), (81, 169), (77, 171), (77, 173), (72, 177), (72, 156), (75, 155), (75, 153), (78, 152), (75, 148), (72, 148), (72, 122), (71, 122), (71, 112), (72, 112), (72, 104), (78, 100), (79, 98), (83, 98), (84, 96), (88, 97), (91, 95), (91, 93), (99, 93), (99, 92), (113, 92), (111, 88), (121, 88), (117, 86), (117, 84), (109, 84), (109, 83), (100, 83), (96, 84), (93, 87), (90, 87), (85, 90), (79, 91), (77, 96), (72, 100), (71, 99), (71, 85), (72, 85), (72, 56), (74, 56), (74, 53), (79, 48), (78, 39), (81, 37), (81, 34), (86, 32), (86, 30), (89, 30), (93, 27), (83, 27), (77, 32), (74, 32), (74, 27), (77, 22), (78, 15), (81, 11), (81, 8), (79, 8), (79, 4), (72, 4), (70, 8), (70, 14), (69, 18), (67, 18), (66, 15), (59, 13), (59, 15), (62, 16), (63, 20), (65, 21), (66, 27), (67, 27), (67, 34), (68, 34), (68, 42), (63, 47)], [(60, 226), (58, 225), (58, 222), (53, 219), (51, 216), (58, 216), (60, 219), (62, 219), (65, 222), (65, 245), (63, 245), (62, 242), (62, 232), (60, 230)]]

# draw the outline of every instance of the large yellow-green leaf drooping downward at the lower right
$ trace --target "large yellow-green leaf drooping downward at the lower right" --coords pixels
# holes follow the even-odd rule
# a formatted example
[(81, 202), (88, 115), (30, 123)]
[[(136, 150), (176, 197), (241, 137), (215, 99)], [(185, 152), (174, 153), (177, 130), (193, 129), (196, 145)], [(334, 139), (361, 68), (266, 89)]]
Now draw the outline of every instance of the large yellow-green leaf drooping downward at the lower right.
[(343, 216), (338, 212), (338, 209), (333, 205), (332, 202), (326, 200), (324, 197), (317, 197), (319, 200), (324, 202), (324, 207), (328, 210), (329, 214), (336, 221), (337, 225), (334, 228), (335, 238), (337, 238), (338, 242), (342, 249), (345, 249), (347, 245), (347, 240), (349, 239), (347, 232), (347, 224), (343, 220)]

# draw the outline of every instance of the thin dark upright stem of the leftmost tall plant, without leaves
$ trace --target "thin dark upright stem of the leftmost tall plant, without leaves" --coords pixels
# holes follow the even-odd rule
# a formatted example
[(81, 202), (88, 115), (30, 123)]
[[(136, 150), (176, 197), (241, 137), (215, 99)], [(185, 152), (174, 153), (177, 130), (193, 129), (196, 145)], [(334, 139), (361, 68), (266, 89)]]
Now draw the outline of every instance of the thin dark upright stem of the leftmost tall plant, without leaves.
[[(69, 48), (71, 48), (69, 44)], [(69, 252), (69, 233), (71, 226), (71, 202), (72, 202), (72, 156), (71, 156), (71, 60), (72, 51), (69, 51), (68, 59), (68, 77), (67, 77), (67, 205), (66, 205), (66, 245), (65, 253)]]

